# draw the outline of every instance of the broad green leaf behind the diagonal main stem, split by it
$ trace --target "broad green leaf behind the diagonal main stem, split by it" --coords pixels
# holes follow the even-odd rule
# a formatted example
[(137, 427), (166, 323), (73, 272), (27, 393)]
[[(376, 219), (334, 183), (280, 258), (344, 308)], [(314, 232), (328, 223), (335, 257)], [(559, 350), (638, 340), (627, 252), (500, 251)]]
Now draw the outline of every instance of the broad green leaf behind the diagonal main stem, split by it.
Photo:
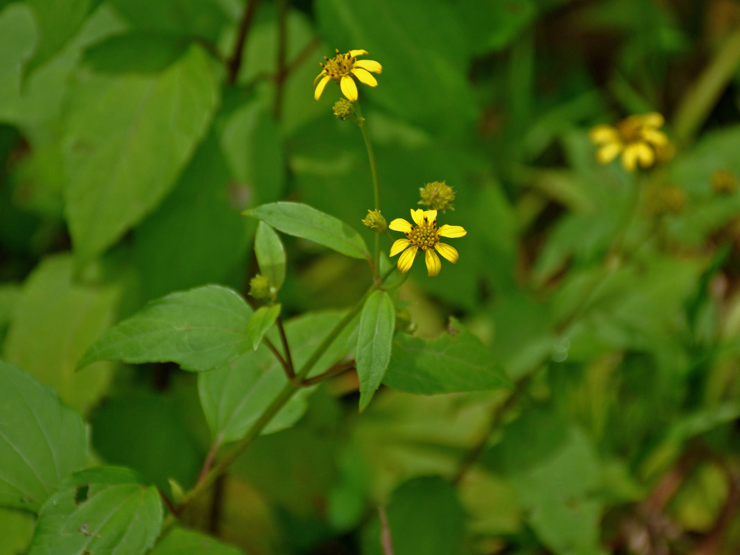
[[(306, 363), (342, 316), (341, 312), (304, 314), (286, 323), (286, 337), (296, 369)], [(318, 360), (309, 376), (325, 371), (346, 356), (356, 343), (352, 332), (350, 324)], [(277, 337), (272, 340), (279, 342)], [(265, 346), (260, 346), (257, 352), (247, 351), (221, 368), (198, 374), (203, 413), (215, 440), (226, 443), (240, 439), (287, 383), (282, 366)], [(265, 433), (293, 425), (306, 411), (306, 398), (313, 390), (301, 388), (272, 419)]]

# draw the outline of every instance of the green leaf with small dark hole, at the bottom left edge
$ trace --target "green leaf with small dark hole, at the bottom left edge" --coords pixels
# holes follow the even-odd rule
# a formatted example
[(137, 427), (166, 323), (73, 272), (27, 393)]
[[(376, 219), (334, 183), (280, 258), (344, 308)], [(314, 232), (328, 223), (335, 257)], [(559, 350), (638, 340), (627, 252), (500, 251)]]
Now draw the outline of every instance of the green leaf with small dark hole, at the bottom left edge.
[(101, 466), (64, 482), (41, 508), (29, 555), (140, 555), (162, 525), (157, 488), (128, 468)]

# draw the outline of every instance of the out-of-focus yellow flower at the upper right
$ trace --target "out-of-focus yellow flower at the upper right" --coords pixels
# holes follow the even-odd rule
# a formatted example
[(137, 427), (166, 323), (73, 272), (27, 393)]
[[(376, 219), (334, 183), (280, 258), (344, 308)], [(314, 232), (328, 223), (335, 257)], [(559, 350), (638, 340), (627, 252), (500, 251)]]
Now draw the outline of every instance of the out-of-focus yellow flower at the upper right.
[(667, 135), (659, 128), (665, 120), (658, 112), (630, 115), (616, 124), (597, 125), (588, 136), (599, 145), (596, 161), (608, 164), (622, 154), (622, 166), (633, 172), (637, 166), (649, 168), (656, 161), (670, 158), (672, 147)]

